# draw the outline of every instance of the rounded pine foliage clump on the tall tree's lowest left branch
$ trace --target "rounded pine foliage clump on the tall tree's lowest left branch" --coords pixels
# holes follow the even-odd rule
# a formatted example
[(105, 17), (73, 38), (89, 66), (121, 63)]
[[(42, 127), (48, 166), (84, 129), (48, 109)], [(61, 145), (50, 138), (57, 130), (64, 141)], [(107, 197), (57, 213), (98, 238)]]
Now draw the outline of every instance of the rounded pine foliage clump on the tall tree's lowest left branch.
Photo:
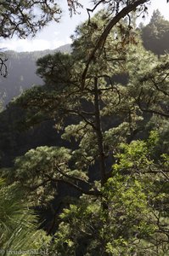
[(15, 159), (14, 167), (3, 170), (8, 182), (17, 180), (25, 189), (31, 205), (51, 201), (57, 193), (57, 183), (68, 183), (71, 179), (87, 181), (81, 170), (70, 169), (70, 149), (38, 147)]

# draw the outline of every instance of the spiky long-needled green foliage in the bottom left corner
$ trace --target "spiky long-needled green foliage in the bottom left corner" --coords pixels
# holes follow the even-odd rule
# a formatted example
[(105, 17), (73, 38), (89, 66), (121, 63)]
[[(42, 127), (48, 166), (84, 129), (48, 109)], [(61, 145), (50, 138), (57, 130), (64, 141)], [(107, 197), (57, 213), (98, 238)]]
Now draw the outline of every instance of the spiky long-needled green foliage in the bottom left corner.
[(27, 206), (23, 195), (18, 183), (8, 186), (0, 180), (0, 247), (3, 256), (10, 250), (39, 250), (49, 241), (42, 230), (37, 230), (37, 216)]

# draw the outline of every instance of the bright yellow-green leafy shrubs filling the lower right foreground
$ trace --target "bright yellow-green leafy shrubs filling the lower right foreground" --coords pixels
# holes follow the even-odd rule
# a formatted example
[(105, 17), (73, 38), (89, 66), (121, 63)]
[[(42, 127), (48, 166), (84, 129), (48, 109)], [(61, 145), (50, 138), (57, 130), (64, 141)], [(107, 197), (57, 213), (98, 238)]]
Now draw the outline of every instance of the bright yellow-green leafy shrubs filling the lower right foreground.
[[(158, 135), (152, 131), (145, 142), (120, 146), (121, 154), (116, 155), (118, 164), (113, 166), (112, 177), (101, 189), (102, 197), (82, 195), (76, 205), (70, 205), (60, 214), (51, 252), (167, 255), (168, 191), (161, 193), (161, 183), (166, 177), (162, 171), (155, 173), (151, 169), (154, 160), (149, 160), (156, 143)], [(154, 167), (164, 169), (166, 164)]]

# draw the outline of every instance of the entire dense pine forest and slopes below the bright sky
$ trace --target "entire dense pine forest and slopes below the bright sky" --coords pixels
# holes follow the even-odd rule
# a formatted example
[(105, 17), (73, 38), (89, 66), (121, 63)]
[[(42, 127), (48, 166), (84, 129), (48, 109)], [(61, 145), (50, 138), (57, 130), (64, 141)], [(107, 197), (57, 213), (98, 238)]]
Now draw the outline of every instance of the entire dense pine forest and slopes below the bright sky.
[(108, 1), (71, 45), (3, 53), (0, 254), (169, 255), (169, 21), (138, 26), (145, 2)]

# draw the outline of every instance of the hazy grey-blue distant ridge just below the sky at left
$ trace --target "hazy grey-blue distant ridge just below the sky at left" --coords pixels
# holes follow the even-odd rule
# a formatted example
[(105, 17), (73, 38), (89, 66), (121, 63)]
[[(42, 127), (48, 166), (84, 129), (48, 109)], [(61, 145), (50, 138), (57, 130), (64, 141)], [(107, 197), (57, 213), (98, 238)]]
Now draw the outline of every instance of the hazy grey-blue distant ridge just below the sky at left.
[(43, 84), (42, 79), (36, 74), (36, 61), (44, 55), (52, 55), (57, 51), (70, 53), (70, 44), (59, 46), (57, 49), (31, 52), (4, 51), (8, 58), (6, 62), (8, 76), (7, 78), (0, 76), (0, 98), (3, 101), (4, 108), (12, 98), (19, 96), (23, 90), (31, 88), (33, 84)]

